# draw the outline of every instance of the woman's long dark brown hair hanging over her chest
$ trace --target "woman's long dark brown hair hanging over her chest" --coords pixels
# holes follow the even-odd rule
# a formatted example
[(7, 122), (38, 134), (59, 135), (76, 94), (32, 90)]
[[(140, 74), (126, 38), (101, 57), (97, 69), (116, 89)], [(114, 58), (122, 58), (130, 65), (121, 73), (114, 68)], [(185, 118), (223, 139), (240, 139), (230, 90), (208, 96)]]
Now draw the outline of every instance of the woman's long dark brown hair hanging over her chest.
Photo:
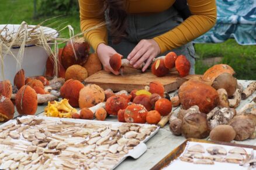
[(117, 44), (127, 36), (126, 0), (105, 0), (105, 10), (110, 20), (110, 34), (113, 44)]

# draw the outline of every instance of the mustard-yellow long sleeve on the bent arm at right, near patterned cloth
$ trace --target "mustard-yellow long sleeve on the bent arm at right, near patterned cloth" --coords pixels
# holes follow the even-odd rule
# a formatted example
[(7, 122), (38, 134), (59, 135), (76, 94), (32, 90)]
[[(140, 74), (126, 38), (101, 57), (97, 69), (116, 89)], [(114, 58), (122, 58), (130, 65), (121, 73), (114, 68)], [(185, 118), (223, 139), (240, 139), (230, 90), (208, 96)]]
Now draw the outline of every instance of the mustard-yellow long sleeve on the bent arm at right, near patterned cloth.
[(161, 52), (180, 47), (214, 26), (217, 17), (215, 0), (188, 0), (188, 6), (192, 16), (174, 29), (154, 38)]

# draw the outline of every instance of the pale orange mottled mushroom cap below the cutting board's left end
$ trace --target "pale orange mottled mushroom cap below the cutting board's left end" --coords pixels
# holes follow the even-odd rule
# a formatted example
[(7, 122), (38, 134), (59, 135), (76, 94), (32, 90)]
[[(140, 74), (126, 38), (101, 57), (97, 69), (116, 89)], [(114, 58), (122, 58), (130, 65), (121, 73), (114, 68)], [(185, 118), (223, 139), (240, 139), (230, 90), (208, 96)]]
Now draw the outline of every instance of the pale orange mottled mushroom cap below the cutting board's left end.
[(105, 100), (104, 90), (96, 84), (87, 84), (79, 92), (79, 108), (89, 108)]

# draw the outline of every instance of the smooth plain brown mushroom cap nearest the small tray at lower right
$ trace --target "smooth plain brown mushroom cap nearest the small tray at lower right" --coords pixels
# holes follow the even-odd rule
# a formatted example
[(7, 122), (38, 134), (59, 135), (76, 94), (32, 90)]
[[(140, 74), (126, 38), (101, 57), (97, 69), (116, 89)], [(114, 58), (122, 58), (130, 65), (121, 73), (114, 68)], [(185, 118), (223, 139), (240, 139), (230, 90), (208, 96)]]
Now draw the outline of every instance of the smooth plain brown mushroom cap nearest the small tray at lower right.
[(210, 132), (210, 140), (230, 142), (236, 137), (236, 131), (230, 125), (218, 125)]

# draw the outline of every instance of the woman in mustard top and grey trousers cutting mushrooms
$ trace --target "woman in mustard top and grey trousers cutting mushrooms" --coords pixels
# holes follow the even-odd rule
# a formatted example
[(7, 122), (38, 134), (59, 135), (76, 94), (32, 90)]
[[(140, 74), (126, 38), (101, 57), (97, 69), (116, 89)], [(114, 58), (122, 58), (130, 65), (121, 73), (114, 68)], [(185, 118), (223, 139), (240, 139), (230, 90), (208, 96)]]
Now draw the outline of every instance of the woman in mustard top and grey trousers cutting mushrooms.
[[(179, 0), (177, 0), (179, 1)], [(137, 68), (145, 62), (143, 72), (151, 61), (169, 51), (185, 55), (195, 73), (195, 50), (192, 40), (206, 33), (216, 22), (215, 0), (188, 0), (191, 16), (185, 21), (172, 5), (175, 0), (79, 0), (81, 30), (102, 22), (85, 33), (85, 39), (97, 52), (106, 71), (115, 72), (109, 58), (115, 53), (129, 59)]]

